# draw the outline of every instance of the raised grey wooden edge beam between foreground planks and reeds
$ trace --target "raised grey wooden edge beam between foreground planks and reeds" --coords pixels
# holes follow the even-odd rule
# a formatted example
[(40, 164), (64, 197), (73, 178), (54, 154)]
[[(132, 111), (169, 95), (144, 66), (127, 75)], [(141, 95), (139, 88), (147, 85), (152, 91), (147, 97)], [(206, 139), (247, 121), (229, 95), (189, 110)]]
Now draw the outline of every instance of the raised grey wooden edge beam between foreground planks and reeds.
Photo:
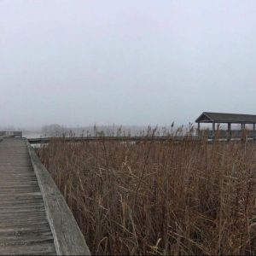
[(38, 177), (47, 218), (51, 227), (58, 255), (90, 255), (84, 236), (49, 172), (38, 159), (34, 149), (26, 141), (32, 166)]

